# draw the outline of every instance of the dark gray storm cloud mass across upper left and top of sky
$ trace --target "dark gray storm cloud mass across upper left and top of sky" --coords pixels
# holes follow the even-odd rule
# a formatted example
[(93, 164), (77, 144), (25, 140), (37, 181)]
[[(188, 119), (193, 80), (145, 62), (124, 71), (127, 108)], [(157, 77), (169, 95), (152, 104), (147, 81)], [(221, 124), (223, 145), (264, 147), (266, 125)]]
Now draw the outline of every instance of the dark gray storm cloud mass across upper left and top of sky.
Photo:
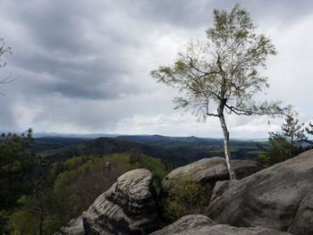
[[(275, 13), (288, 21), (308, 13), (310, 4), (283, 0), (240, 3), (251, 9), (254, 17)], [(124, 54), (130, 48), (140, 47), (143, 34), (149, 33), (142, 29), (136, 32), (141, 21), (154, 27), (168, 24), (195, 28), (212, 21), (214, 8), (231, 7), (233, 1), (6, 1), (6, 16), (18, 22), (28, 36), (20, 38), (11, 62), (55, 78), (31, 84), (30, 90), (35, 93), (56, 92), (65, 97), (90, 99), (138, 94), (143, 90), (123, 78), (131, 76), (133, 70), (131, 59)], [(35, 49), (28, 50), (29, 46)]]

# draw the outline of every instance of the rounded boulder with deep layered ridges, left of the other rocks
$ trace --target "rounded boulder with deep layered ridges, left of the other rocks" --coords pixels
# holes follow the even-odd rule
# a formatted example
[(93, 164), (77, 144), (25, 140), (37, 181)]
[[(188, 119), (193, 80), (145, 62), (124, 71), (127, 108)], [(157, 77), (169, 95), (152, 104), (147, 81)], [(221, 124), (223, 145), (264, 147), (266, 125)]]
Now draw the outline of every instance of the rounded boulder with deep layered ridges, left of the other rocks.
[(146, 234), (157, 230), (157, 204), (152, 173), (133, 170), (114, 185), (83, 214), (86, 234)]

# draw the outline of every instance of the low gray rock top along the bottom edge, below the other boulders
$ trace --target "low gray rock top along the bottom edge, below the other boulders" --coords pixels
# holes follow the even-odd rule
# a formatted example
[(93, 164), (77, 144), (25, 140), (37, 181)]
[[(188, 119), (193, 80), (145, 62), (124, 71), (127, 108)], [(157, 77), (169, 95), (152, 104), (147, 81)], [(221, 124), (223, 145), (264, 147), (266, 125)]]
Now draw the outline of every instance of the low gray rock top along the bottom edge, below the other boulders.
[(236, 228), (228, 224), (216, 224), (203, 214), (183, 216), (177, 222), (150, 235), (288, 235), (291, 233), (275, 231), (262, 227)]

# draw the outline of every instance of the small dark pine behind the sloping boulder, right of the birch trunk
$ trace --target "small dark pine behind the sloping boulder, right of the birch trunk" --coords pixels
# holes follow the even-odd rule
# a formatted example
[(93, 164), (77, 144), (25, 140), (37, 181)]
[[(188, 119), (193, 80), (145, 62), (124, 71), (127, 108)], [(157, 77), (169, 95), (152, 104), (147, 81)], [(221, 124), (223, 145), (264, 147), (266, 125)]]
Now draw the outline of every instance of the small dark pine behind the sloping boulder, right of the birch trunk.
[(262, 164), (273, 165), (283, 162), (295, 155), (299, 155), (305, 149), (308, 138), (305, 135), (303, 123), (298, 120), (297, 113), (288, 113), (282, 125), (282, 131), (269, 132), (268, 142), (272, 147), (258, 147), (263, 151), (258, 155)]

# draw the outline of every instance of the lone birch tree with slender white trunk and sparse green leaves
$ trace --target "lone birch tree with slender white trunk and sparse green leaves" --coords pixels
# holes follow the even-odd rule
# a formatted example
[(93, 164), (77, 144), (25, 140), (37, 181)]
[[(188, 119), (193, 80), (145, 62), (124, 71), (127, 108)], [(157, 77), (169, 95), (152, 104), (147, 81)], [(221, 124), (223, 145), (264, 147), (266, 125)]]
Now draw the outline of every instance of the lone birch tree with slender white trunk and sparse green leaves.
[(231, 180), (235, 173), (229, 151), (229, 132), (224, 113), (281, 115), (281, 102), (257, 102), (253, 97), (269, 85), (258, 69), (275, 55), (270, 38), (255, 32), (250, 13), (236, 4), (231, 12), (214, 10), (215, 25), (207, 29), (207, 42), (190, 42), (172, 66), (151, 71), (159, 82), (177, 88), (175, 108), (191, 110), (199, 121), (219, 119), (224, 133), (224, 152)]

